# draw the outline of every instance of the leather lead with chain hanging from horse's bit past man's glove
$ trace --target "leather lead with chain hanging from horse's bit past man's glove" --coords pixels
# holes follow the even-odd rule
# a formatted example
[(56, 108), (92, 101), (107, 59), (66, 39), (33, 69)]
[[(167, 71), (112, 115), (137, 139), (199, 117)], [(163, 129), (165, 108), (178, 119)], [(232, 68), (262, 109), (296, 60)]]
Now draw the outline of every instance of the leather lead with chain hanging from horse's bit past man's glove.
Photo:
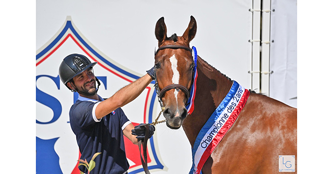
[[(163, 110), (164, 110), (164, 107), (162, 107), (162, 110), (159, 112), (157, 118), (155, 119), (155, 122), (149, 123), (149, 124), (146, 124), (146, 125), (142, 125), (146, 128), (146, 133), (145, 133), (143, 143), (142, 143), (142, 140), (140, 140), (138, 142), (138, 146), (139, 146), (139, 152), (140, 152), (142, 167), (143, 167), (143, 170), (146, 174), (150, 174), (149, 169), (148, 169), (148, 164), (147, 164), (147, 142), (148, 142), (148, 136), (149, 136), (149, 127), (148, 126), (149, 125), (154, 125), (155, 126), (159, 123), (164, 123), (164, 122), (167, 121), (167, 120), (158, 121), (159, 116), (161, 115)], [(142, 144), (142, 149), (143, 149), (143, 157), (142, 157), (142, 154), (141, 154), (141, 144)]]

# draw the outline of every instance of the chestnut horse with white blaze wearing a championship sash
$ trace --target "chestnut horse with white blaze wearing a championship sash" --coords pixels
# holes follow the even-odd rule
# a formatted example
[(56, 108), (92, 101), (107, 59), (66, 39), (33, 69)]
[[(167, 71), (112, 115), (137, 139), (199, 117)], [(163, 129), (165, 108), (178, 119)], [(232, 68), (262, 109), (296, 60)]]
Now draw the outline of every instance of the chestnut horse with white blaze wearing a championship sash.
[[(155, 51), (156, 92), (167, 126), (183, 126), (192, 150), (200, 130), (234, 85), (233, 80), (201, 57), (197, 56), (194, 62), (189, 43), (196, 30), (192, 16), (182, 36), (167, 37), (163, 17), (155, 28), (159, 47)], [(194, 110), (188, 114), (186, 103), (194, 82), (194, 68)], [(279, 173), (280, 155), (294, 155), (297, 168), (297, 109), (251, 90), (247, 92), (245, 106), (207, 156), (202, 173)]]

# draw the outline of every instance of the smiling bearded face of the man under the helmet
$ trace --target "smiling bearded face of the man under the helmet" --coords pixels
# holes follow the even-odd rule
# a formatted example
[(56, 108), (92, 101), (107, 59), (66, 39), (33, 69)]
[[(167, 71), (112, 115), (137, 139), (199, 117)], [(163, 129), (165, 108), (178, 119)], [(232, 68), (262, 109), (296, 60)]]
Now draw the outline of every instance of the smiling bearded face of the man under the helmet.
[(78, 92), (94, 94), (96, 92), (96, 80), (92, 69), (80, 73), (73, 78), (74, 86)]

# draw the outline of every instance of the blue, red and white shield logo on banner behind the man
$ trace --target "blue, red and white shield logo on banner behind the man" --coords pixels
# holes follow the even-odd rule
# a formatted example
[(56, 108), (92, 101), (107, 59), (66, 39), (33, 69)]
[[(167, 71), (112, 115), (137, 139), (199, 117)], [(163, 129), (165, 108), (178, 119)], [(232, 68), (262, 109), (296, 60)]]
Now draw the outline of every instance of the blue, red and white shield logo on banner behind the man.
[[(101, 82), (98, 94), (102, 97), (112, 96), (142, 76), (101, 53), (80, 33), (71, 17), (67, 17), (61, 29), (36, 51), (36, 173), (80, 173), (77, 160), (81, 154), (68, 114), (78, 93), (62, 84), (58, 75), (60, 63), (71, 53), (84, 54), (91, 62), (98, 62), (94, 71)], [(134, 126), (151, 123), (156, 117), (153, 85), (154, 82), (149, 84), (137, 99), (123, 107)], [(127, 138), (124, 140), (130, 163), (128, 172), (142, 172), (138, 146)], [(148, 169), (163, 169), (154, 136), (148, 142)]]

